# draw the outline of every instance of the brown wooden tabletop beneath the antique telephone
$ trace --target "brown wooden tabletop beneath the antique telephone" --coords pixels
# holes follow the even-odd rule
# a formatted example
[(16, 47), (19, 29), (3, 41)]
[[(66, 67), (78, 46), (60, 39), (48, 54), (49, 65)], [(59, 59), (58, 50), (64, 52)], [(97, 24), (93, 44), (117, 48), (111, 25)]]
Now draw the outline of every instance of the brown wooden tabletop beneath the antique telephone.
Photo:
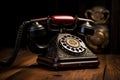
[[(0, 59), (12, 54), (13, 48), (0, 49)], [(49, 70), (36, 63), (37, 54), (20, 49), (10, 67), (0, 67), (0, 80), (120, 80), (120, 55), (96, 54), (98, 68)]]

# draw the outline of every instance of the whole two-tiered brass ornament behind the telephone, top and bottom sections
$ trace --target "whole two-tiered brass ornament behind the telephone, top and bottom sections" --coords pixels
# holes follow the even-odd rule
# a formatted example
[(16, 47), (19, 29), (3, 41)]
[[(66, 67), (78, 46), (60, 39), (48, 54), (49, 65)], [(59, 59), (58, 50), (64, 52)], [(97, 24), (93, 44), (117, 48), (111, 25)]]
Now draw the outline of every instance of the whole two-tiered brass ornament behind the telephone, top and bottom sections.
[(94, 35), (86, 35), (85, 42), (94, 52), (102, 52), (109, 44), (108, 19), (110, 12), (102, 6), (95, 6), (85, 11), (85, 17), (94, 20)]

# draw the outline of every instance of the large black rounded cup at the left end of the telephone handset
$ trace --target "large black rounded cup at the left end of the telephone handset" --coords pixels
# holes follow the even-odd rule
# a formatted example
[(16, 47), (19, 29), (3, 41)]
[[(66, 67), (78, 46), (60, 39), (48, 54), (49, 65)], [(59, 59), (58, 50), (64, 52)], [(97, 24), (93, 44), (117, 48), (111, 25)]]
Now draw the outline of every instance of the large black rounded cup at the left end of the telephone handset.
[(48, 32), (43, 24), (34, 22), (28, 29), (28, 47), (36, 54), (42, 53), (48, 47)]

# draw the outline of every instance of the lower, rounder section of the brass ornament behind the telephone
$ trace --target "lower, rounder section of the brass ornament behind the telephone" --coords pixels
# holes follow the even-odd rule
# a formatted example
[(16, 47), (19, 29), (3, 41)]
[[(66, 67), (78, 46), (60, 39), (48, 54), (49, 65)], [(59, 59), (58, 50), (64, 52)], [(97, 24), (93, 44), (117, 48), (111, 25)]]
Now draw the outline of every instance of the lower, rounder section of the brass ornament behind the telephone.
[(85, 36), (86, 44), (94, 52), (101, 52), (109, 43), (109, 30), (105, 25), (98, 25), (95, 27), (93, 36)]

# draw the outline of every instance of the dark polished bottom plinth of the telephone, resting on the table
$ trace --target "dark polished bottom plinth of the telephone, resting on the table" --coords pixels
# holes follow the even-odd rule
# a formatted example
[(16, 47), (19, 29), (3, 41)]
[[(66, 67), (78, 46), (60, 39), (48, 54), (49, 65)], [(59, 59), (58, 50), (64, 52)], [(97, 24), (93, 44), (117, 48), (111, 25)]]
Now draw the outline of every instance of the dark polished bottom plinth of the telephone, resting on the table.
[(62, 68), (97, 68), (99, 61), (97, 56), (93, 57), (77, 57), (77, 58), (47, 58), (39, 55), (38, 64), (42, 64), (55, 69)]

